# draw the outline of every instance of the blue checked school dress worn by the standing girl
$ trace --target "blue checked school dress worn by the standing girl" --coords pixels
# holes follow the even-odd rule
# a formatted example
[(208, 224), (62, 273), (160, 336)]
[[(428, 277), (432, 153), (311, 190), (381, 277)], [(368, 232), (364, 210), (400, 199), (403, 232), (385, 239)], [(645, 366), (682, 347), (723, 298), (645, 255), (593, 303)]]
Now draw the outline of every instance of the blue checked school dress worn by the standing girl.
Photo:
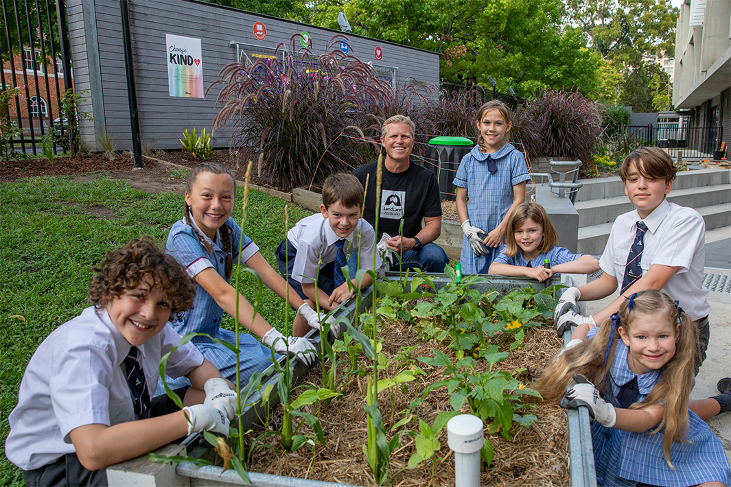
[[(490, 154), (497, 172), (488, 171), (488, 154), (475, 145), (462, 158), (453, 181), (455, 186), (467, 189), (467, 215), (472, 226), (490, 232), (505, 217), (513, 202), (512, 187), (531, 179), (526, 158), (512, 144), (505, 144)], [(467, 237), (462, 239), (460, 264), (463, 274), (487, 274), (490, 264), (502, 246), (492, 249), (488, 256), (475, 256)]]

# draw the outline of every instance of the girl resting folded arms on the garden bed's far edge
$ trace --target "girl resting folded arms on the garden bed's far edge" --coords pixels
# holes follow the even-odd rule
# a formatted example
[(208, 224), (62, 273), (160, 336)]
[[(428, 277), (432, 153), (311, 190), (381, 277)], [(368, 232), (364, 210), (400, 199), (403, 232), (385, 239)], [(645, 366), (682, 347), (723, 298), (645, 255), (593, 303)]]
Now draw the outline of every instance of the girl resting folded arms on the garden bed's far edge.
[[(507, 222), (506, 245), (490, 264), (490, 274), (533, 277), (545, 281), (558, 272), (588, 274), (599, 270), (594, 256), (571, 253), (558, 247), (558, 233), (543, 207), (534, 202), (520, 204)], [(546, 268), (544, 261), (550, 261)]]

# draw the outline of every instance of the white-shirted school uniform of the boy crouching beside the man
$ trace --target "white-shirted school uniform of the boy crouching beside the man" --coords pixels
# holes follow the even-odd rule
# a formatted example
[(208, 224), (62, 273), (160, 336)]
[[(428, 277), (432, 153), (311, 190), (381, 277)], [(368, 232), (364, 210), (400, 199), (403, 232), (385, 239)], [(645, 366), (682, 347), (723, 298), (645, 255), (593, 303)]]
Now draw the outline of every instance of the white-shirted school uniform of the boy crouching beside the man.
[[(362, 231), (361, 231), (362, 230)], [(314, 283), (325, 293), (332, 294), (335, 286), (334, 273), (340, 240), (321, 213), (298, 221), (287, 231), (287, 238), (276, 250), (279, 272), (302, 299), (309, 299), (302, 291), (303, 283)], [(374, 270), (381, 266), (381, 256), (376, 252), (376, 232), (370, 223), (360, 218), (355, 230), (345, 237), (343, 251), (347, 256), (357, 256), (360, 248), (360, 269)], [(374, 267), (374, 256), (376, 258)], [(352, 279), (355, 275), (351, 275)]]

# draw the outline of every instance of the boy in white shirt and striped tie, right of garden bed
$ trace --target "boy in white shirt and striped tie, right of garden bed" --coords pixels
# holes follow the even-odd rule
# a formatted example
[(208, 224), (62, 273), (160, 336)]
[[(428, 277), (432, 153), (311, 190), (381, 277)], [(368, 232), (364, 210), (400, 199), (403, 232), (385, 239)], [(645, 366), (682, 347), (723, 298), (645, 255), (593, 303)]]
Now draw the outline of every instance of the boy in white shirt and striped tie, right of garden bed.
[[(559, 334), (569, 323), (590, 328), (619, 310), (632, 294), (656, 289), (677, 300), (697, 326), (695, 372), (705, 360), (710, 334), (708, 289), (702, 286), (705, 222), (692, 208), (667, 202), (675, 180), (673, 159), (658, 147), (640, 147), (624, 159), (619, 175), (635, 210), (614, 221), (599, 259), (602, 277), (561, 295), (554, 320)], [(577, 301), (619, 296), (591, 316), (578, 314)]]

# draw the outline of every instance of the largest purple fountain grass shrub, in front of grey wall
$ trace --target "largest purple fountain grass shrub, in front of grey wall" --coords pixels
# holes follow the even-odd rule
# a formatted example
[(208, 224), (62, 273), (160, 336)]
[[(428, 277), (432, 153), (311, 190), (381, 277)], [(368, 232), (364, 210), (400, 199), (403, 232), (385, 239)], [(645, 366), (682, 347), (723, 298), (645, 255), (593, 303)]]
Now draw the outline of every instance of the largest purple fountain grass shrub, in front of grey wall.
[[(288, 190), (325, 180), (373, 157), (360, 127), (374, 123), (371, 107), (387, 106), (393, 89), (375, 70), (338, 49), (314, 58), (297, 49), (300, 34), (280, 44), (274, 58), (249, 66), (229, 64), (213, 86), (221, 85), (213, 129), (235, 126), (231, 148), (259, 147), (260, 175)], [(330, 40), (330, 47), (342, 39)], [(284, 60), (281, 59), (284, 54)], [(369, 121), (370, 120), (370, 121)], [(345, 161), (345, 162), (344, 162)]]

